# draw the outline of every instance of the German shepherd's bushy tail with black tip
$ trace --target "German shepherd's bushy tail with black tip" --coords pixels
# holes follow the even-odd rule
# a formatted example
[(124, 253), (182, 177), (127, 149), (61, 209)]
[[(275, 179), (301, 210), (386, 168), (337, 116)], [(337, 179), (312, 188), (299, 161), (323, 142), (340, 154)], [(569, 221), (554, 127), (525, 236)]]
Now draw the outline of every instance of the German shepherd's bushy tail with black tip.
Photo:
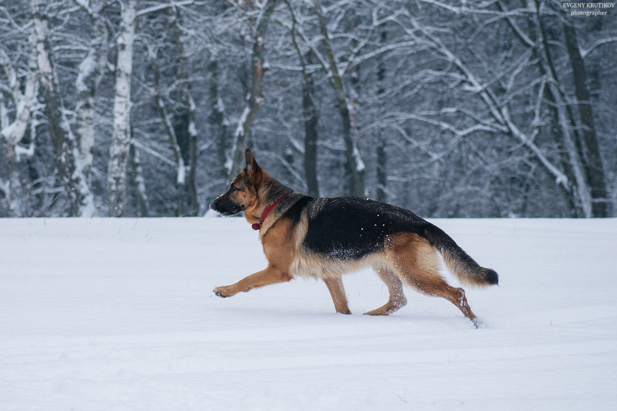
[(475, 287), (488, 287), (499, 282), (499, 276), (495, 270), (479, 266), (439, 227), (429, 224), (424, 229), (424, 235), (431, 245), (437, 248), (444, 259), (445, 266), (456, 275), (461, 283)]

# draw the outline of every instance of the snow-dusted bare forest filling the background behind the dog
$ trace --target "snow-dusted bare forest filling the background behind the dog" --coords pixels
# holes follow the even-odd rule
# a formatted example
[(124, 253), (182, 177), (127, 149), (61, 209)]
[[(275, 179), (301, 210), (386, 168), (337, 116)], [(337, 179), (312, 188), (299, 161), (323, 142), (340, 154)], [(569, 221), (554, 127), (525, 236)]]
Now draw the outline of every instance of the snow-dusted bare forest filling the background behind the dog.
[(313, 197), (614, 217), (616, 44), (615, 3), (0, 0), (0, 217), (203, 216), (247, 147)]

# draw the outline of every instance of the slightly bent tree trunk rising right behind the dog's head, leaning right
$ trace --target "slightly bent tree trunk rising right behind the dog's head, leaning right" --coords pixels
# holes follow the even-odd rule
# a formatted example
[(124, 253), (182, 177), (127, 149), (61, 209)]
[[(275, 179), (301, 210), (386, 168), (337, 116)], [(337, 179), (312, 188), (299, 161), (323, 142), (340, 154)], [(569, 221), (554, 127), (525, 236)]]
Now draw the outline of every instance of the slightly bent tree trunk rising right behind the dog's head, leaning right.
[(270, 15), (274, 11), (275, 6), (276, 0), (264, 0), (257, 26), (255, 27), (255, 39), (251, 57), (251, 91), (249, 91), (249, 96), (244, 105), (244, 111), (238, 121), (238, 128), (236, 128), (236, 132), (234, 132), (232, 161), (227, 169), (228, 181), (231, 181), (231, 179), (244, 168), (244, 152), (249, 145), (251, 128), (255, 122), (255, 118), (257, 118), (259, 107), (263, 104), (263, 74), (267, 70), (267, 67), (263, 65), (263, 55), (265, 52), (264, 44), (268, 30), (268, 20), (270, 20)]

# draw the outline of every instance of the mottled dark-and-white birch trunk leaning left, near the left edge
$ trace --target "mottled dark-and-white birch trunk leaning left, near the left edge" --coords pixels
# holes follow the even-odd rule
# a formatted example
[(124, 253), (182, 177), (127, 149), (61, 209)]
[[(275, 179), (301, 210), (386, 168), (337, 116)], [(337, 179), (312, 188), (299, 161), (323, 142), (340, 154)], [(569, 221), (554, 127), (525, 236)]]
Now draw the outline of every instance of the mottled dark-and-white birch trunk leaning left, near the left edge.
[(60, 95), (58, 78), (52, 59), (49, 39), (48, 15), (41, 0), (32, 0), (35, 21), (36, 51), (41, 85), (45, 99), (45, 115), (54, 142), (56, 165), (60, 181), (67, 190), (70, 216), (91, 217), (96, 213), (94, 198), (83, 175), (80, 154), (75, 136), (68, 124), (64, 103)]

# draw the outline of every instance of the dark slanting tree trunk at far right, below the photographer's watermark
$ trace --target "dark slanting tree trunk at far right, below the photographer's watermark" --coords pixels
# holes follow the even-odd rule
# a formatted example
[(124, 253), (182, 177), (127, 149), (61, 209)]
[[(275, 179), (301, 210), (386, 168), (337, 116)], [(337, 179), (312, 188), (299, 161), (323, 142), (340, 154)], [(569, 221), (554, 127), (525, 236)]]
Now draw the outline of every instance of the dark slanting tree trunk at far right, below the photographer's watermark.
[(581, 51), (576, 38), (574, 23), (569, 21), (563, 23), (563, 33), (566, 39), (566, 49), (572, 74), (574, 76), (574, 88), (576, 89), (576, 99), (578, 100), (578, 111), (581, 116), (582, 137), (586, 150), (586, 172), (587, 181), (591, 186), (592, 216), (608, 217), (610, 208), (607, 198), (607, 185), (605, 183), (604, 167), (602, 156), (598, 147), (598, 138), (595, 133), (594, 115), (589, 101), (589, 89), (587, 89), (587, 73), (581, 57)]

